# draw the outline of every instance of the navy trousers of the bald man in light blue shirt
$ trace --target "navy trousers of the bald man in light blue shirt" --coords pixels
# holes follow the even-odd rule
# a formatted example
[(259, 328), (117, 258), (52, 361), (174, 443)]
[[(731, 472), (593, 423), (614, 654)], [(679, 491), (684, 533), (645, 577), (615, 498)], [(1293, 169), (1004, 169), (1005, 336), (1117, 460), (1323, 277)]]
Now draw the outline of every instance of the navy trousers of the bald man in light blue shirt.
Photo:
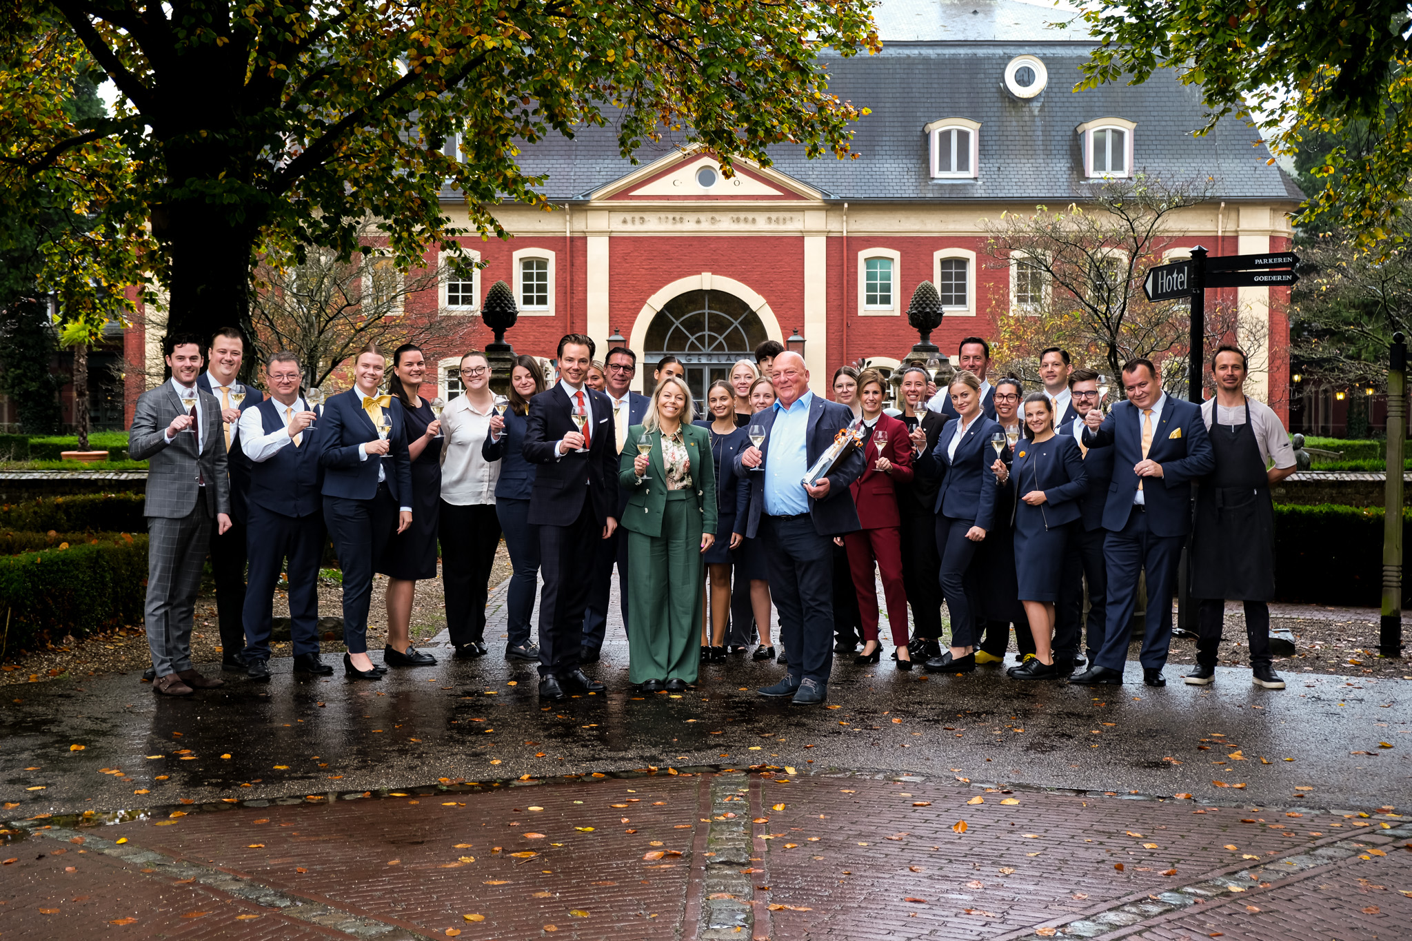
[(789, 652), (789, 681), (829, 681), (833, 669), (833, 539), (809, 514), (760, 518), (770, 546), (770, 595), (779, 611), (779, 641)]

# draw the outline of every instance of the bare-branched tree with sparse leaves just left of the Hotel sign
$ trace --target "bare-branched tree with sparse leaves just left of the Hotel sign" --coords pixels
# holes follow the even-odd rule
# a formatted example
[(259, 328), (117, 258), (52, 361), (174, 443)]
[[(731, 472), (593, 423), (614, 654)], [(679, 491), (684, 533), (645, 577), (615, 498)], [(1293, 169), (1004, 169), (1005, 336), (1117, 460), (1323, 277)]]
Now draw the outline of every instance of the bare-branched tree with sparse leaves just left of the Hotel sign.
[[(1162, 368), (1169, 392), (1185, 394), (1190, 305), (1149, 302), (1142, 279), (1185, 234), (1173, 214), (1210, 192), (1210, 179), (1166, 183), (1138, 174), (1093, 185), (1082, 206), (1036, 206), (988, 221), (987, 267), (1011, 272), (1004, 296), (991, 298), (1003, 368), (1038, 382), (1039, 351), (1049, 346), (1113, 377), (1144, 357)], [(1236, 305), (1207, 299), (1204, 326), (1207, 348), (1237, 339), (1258, 360), (1264, 340)]]

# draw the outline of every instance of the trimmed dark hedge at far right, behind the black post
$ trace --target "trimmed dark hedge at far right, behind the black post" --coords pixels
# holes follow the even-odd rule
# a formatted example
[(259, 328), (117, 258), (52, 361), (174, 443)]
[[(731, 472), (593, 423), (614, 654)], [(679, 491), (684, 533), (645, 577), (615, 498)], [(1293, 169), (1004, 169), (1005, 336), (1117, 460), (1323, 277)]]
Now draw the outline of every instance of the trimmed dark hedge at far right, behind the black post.
[[(1412, 509), (1402, 509), (1402, 607), (1412, 607)], [(1377, 608), (1382, 508), (1275, 504), (1275, 600)]]

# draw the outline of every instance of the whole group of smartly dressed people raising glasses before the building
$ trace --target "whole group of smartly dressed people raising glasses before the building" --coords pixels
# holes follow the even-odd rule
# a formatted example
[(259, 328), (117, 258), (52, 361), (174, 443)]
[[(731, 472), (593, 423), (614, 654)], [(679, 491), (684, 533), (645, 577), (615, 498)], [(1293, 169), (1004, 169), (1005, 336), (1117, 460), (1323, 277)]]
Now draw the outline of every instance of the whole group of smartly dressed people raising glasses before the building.
[[(946, 388), (921, 365), (892, 380), (840, 367), (834, 401), (810, 392), (799, 354), (768, 341), (699, 403), (675, 357), (655, 365), (644, 396), (630, 391), (631, 350), (597, 361), (593, 340), (570, 333), (554, 385), (521, 356), (497, 396), (473, 351), (460, 361), (463, 395), (445, 406), (421, 395), (428, 367), (409, 344), (390, 358), (361, 350), (354, 387), (322, 406), (291, 353), (264, 364), (268, 396), (241, 387), (237, 330), (205, 347), (188, 336), (165, 346), (172, 380), (138, 399), (130, 436), (133, 457), (151, 467), (147, 633), (160, 694), (222, 684), (189, 653), (208, 547), (223, 669), (270, 679), (285, 574), (294, 669), (333, 673), (316, 628), (332, 538), (343, 670), (378, 680), (436, 663), (411, 643), (409, 621), (415, 583), (438, 576), (438, 557), (455, 656), (487, 653), (501, 536), (513, 569), (504, 655), (538, 664), (545, 700), (606, 688), (585, 667), (607, 633), (614, 567), (630, 680), (647, 693), (685, 690), (700, 663), (755, 642), (755, 660), (785, 664), (761, 696), (822, 703), (834, 655), (881, 660), (882, 605), (898, 670), (1001, 663), (1014, 625), (1012, 679), (1117, 684), (1144, 571), (1139, 659), (1144, 681), (1163, 686), (1187, 542), (1202, 601), (1199, 664), (1185, 681), (1213, 680), (1234, 598), (1245, 602), (1254, 681), (1284, 687), (1265, 608), (1269, 485), (1295, 460), (1278, 416), (1245, 398), (1236, 347), (1213, 357), (1216, 396), (1204, 405), (1168, 396), (1156, 367), (1134, 360), (1121, 371), (1124, 401), (1106, 411), (1100, 377), (1058, 347), (1041, 356), (1042, 388), (991, 384), (981, 337), (960, 343)], [(887, 408), (892, 382), (899, 408)], [(843, 436), (853, 443), (820, 460)], [(374, 573), (388, 578), (381, 663), (367, 649)]]

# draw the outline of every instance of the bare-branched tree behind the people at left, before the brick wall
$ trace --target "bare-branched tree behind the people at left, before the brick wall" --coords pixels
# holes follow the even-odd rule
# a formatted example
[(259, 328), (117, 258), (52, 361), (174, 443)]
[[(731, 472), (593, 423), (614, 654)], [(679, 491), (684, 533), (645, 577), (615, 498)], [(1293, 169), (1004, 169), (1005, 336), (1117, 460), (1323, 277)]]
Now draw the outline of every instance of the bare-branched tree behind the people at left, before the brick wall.
[(436, 343), (466, 326), (431, 312), (409, 312), (409, 300), (424, 292), (436, 296), (455, 277), (448, 265), (400, 271), (391, 258), (370, 250), (339, 261), (332, 250), (305, 247), (304, 260), (263, 261), (253, 302), (256, 357), (292, 350), (299, 357), (305, 385), (322, 385), (339, 365), (367, 343), (383, 348), (402, 343)]

